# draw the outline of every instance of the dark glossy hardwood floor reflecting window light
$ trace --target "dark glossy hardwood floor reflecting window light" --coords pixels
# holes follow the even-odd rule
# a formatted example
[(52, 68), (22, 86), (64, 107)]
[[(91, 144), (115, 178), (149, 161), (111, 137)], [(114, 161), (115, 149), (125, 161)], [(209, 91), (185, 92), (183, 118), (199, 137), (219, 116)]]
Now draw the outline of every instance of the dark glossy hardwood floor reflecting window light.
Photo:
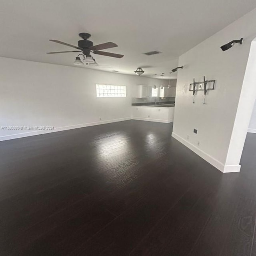
[(256, 134), (222, 174), (124, 121), (0, 142), (0, 255), (256, 256)]

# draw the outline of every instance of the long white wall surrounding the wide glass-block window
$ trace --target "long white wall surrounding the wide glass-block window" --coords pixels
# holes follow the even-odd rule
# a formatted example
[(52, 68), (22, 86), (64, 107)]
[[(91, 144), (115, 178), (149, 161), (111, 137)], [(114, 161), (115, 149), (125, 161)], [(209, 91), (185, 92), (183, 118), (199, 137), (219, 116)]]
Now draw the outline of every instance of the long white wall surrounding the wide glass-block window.
[[(127, 120), (131, 118), (132, 87), (161, 82), (11, 58), (0, 58), (0, 70), (0, 127), (54, 126), (58, 131)], [(126, 85), (127, 97), (97, 98), (97, 83)], [(45, 132), (0, 129), (0, 140)]]

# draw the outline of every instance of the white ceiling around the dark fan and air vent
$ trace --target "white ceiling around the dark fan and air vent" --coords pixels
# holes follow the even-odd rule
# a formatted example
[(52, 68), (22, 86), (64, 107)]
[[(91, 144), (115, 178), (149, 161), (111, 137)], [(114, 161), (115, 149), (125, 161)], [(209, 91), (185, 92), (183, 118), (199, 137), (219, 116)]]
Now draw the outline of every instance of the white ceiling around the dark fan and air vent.
[[(0, 56), (73, 66), (75, 50), (49, 42), (77, 45), (78, 33), (89, 32), (94, 44), (112, 41), (121, 59), (94, 55), (94, 69), (143, 76), (169, 74), (178, 56), (253, 8), (255, 0), (8, 0), (0, 3)], [(236, 39), (236, 38), (230, 38)], [(158, 50), (162, 54), (142, 53)], [(85, 67), (88, 68), (88, 67)], [(134, 74), (135, 75), (135, 74)]]

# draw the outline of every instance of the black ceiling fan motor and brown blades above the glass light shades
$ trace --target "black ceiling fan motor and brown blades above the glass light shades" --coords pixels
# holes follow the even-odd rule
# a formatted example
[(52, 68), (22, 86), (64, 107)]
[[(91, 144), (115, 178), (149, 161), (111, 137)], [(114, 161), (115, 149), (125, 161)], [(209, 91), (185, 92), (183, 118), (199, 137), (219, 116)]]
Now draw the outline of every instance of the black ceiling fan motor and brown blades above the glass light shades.
[(82, 52), (86, 57), (91, 57), (90, 53), (92, 52), (93, 54), (99, 54), (99, 55), (104, 55), (104, 56), (109, 56), (109, 57), (114, 57), (114, 58), (124, 57), (124, 55), (122, 55), (122, 54), (100, 51), (103, 49), (117, 47), (118, 45), (113, 42), (107, 42), (104, 44), (93, 45), (93, 42), (88, 40), (88, 38), (90, 38), (90, 36), (91, 36), (90, 34), (80, 33), (79, 36), (82, 38), (82, 40), (78, 41), (78, 46), (75, 46), (72, 44), (67, 44), (67, 43), (64, 43), (64, 42), (61, 42), (58, 40), (49, 39), (49, 41), (51, 41), (51, 42), (55, 42), (58, 44), (64, 44), (66, 46), (76, 48), (78, 51), (46, 52), (46, 53), (47, 54), (56, 54), (56, 53), (66, 53), (66, 52)]

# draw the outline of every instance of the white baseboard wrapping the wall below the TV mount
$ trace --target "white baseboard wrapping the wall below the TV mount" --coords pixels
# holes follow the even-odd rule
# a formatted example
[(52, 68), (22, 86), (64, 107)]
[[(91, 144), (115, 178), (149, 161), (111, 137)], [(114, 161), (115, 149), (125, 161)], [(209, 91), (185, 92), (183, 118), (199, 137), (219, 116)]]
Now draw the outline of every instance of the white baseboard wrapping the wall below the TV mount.
[(210, 156), (209, 154), (207, 154), (206, 152), (200, 150), (199, 148), (197, 148), (196, 146), (194, 146), (193, 144), (191, 144), (190, 142), (185, 140), (184, 138), (175, 134), (174, 132), (172, 132), (172, 137), (175, 138), (176, 140), (178, 140), (179, 142), (181, 142), (182, 144), (184, 144), (186, 147), (188, 147), (190, 150), (192, 150), (196, 154), (198, 154), (198, 156), (202, 157), (204, 160), (206, 160), (208, 163), (213, 165), (215, 168), (217, 168), (221, 172), (225, 172), (225, 173), (240, 172), (240, 168), (241, 168), (240, 164), (224, 165), (221, 162), (219, 162), (218, 160), (216, 160), (215, 158), (213, 158), (212, 156)]

